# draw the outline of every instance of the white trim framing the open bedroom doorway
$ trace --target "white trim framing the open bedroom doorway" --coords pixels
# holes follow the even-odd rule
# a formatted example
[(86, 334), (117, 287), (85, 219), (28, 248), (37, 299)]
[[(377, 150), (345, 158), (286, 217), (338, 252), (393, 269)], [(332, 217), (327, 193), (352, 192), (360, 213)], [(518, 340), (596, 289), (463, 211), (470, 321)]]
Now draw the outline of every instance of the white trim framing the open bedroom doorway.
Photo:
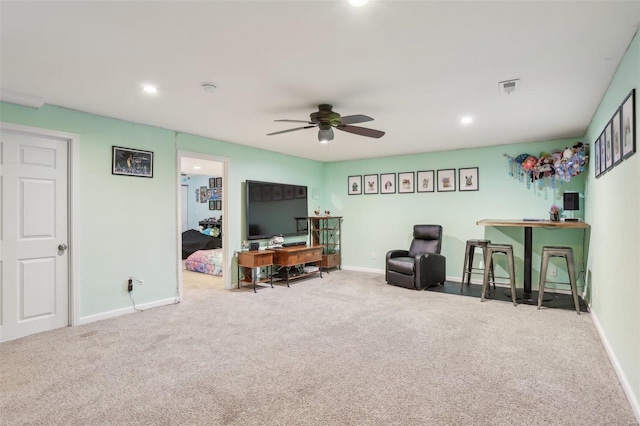
[[(231, 161), (227, 157), (218, 157), (210, 154), (202, 154), (199, 152), (191, 152), (191, 151), (182, 151), (178, 150), (176, 152), (176, 240), (178, 242), (176, 251), (176, 260), (178, 269), (177, 272), (177, 281), (178, 281), (178, 299), (182, 300), (182, 209), (180, 204), (182, 203), (182, 194), (180, 187), (182, 186), (181, 179), (181, 167), (182, 167), (182, 158), (197, 158), (204, 161), (215, 161), (217, 163), (222, 163), (222, 250), (223, 250), (223, 262), (224, 268), (222, 272), (222, 279), (224, 282), (224, 288), (231, 288), (231, 261), (233, 257), (233, 251), (229, 250), (229, 215), (228, 215), (228, 200), (229, 197), (225, 194), (229, 194), (229, 168)], [(225, 198), (226, 197), (226, 198)], [(224, 201), (224, 200), (227, 201)]]

